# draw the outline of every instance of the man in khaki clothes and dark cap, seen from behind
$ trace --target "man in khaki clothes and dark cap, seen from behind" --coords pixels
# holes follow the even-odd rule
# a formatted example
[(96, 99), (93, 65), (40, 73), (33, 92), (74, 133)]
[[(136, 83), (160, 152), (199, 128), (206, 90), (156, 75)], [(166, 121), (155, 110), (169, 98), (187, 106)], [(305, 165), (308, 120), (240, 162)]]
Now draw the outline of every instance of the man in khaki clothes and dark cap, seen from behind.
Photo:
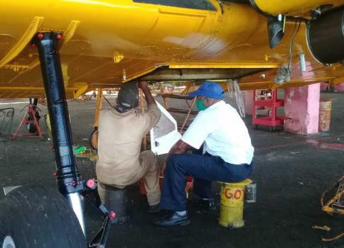
[(156, 213), (160, 202), (158, 165), (153, 152), (141, 152), (141, 142), (144, 135), (158, 123), (161, 112), (151, 96), (148, 83), (139, 82), (139, 88), (144, 92), (148, 106), (145, 113), (136, 109), (139, 106), (136, 83), (123, 84), (119, 90), (117, 106), (100, 113), (96, 166), (98, 193), (103, 204), (107, 203), (105, 205), (108, 208), (114, 208), (109, 205), (118, 197), (113, 196), (112, 191), (144, 178), (149, 212)]

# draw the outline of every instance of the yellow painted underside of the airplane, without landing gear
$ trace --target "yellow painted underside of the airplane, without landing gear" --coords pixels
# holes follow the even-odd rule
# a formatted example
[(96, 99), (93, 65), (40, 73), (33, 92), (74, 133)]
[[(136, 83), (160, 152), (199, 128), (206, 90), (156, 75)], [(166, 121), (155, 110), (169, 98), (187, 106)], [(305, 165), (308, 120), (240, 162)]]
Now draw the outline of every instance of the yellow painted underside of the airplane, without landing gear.
[[(33, 35), (45, 31), (63, 33), (60, 57), (68, 98), (149, 79), (161, 69), (176, 72), (173, 80), (178, 80), (178, 72), (197, 71), (210, 78), (225, 72), (228, 79), (241, 78), (244, 90), (281, 87), (274, 84), (274, 77), (288, 62), (295, 22), (286, 23), (281, 43), (270, 49), (265, 16), (247, 4), (210, 2), (215, 11), (131, 0), (0, 0), (0, 98), (45, 97), (38, 50), (31, 46)], [(282, 6), (282, 11), (304, 16), (314, 7), (307, 4), (311, 1), (284, 2), (303, 4), (301, 13), (295, 6)], [(277, 11), (275, 5), (261, 4)], [(343, 65), (324, 67), (313, 59), (305, 33), (301, 24), (291, 81), (282, 86), (344, 81)], [(306, 55), (304, 74), (297, 69), (299, 53)], [(190, 74), (190, 79), (195, 77)]]

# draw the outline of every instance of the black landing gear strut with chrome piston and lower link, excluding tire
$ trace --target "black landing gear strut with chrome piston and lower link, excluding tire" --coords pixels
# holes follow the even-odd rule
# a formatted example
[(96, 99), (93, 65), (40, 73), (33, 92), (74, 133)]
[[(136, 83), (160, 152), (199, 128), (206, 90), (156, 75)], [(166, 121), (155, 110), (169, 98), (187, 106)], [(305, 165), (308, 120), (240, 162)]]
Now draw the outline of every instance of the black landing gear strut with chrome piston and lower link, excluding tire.
[[(48, 112), (55, 151), (58, 190), (68, 199), (70, 206), (80, 222), (82, 232), (85, 235), (81, 193), (85, 193), (87, 190), (95, 190), (97, 185), (93, 179), (82, 181), (76, 167), (72, 149), (72, 132), (65, 97), (63, 74), (58, 53), (58, 40), (61, 38), (62, 35), (59, 33), (38, 33), (33, 39), (33, 43), (38, 46), (43, 83), (48, 101)], [(95, 242), (92, 242), (90, 247), (101, 248), (105, 246), (107, 235), (109, 234), (109, 227), (111, 226), (110, 222), (112, 222), (111, 220), (115, 217), (115, 214), (112, 211), (107, 211), (102, 205), (98, 208), (100, 208), (102, 213), (107, 215), (107, 218), (98, 232), (99, 235), (95, 237)], [(95, 244), (97, 246), (95, 246)]]

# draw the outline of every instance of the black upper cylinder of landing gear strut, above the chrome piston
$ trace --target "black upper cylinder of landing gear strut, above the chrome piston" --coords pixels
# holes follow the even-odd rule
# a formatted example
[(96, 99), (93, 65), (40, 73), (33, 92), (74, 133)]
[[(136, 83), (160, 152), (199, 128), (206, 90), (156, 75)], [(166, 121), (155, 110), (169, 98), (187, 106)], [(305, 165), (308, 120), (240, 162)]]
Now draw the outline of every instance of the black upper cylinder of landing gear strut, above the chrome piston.
[(38, 46), (48, 112), (53, 135), (57, 167), (58, 189), (61, 193), (75, 193), (82, 187), (72, 149), (72, 131), (65, 97), (65, 85), (58, 53), (58, 33), (38, 33), (33, 42)]

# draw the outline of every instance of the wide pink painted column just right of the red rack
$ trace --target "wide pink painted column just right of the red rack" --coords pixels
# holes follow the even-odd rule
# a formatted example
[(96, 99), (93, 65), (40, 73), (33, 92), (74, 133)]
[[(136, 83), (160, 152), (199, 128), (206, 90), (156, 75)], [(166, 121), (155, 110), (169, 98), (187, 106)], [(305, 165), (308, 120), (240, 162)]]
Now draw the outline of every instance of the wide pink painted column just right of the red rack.
[(320, 84), (287, 88), (284, 100), (284, 130), (305, 135), (318, 133)]

